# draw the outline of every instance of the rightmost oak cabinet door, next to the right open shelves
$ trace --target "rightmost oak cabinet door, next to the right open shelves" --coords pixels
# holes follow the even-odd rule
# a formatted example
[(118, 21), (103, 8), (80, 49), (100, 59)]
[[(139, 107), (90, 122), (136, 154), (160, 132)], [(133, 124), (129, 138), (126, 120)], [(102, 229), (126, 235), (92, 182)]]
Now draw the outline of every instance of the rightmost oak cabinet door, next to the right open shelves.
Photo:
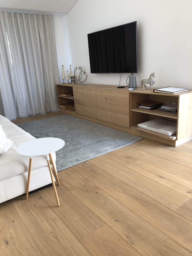
[(111, 90), (111, 111), (113, 124), (130, 127), (128, 90)]

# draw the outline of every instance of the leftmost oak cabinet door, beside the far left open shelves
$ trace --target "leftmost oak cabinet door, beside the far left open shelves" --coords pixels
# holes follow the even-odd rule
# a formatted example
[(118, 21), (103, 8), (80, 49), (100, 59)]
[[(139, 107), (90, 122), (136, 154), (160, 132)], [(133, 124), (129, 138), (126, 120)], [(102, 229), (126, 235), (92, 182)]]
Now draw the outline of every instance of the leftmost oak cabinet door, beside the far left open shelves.
[(84, 94), (83, 87), (73, 86), (75, 112), (84, 115)]

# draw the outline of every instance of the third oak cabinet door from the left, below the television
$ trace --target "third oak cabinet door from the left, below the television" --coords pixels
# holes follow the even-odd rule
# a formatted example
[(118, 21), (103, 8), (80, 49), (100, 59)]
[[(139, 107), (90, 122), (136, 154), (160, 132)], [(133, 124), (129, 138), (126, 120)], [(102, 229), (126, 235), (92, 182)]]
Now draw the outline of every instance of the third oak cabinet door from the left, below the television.
[(96, 89), (97, 118), (112, 122), (111, 116), (111, 90)]

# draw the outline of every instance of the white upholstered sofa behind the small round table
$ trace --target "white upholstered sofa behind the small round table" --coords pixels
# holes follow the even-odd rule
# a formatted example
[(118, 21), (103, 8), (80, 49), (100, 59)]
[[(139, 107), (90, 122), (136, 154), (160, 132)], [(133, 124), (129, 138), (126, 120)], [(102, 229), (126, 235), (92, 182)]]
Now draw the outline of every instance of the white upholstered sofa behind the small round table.
[[(0, 155), (0, 203), (2, 203), (26, 193), (29, 157), (17, 154), (16, 148), (28, 140), (34, 140), (35, 137), (2, 115), (0, 115), (0, 125), (7, 138), (14, 143), (12, 148)], [(55, 153), (52, 153), (52, 159), (55, 164)], [(52, 182), (46, 157), (33, 157), (29, 191), (50, 183)]]

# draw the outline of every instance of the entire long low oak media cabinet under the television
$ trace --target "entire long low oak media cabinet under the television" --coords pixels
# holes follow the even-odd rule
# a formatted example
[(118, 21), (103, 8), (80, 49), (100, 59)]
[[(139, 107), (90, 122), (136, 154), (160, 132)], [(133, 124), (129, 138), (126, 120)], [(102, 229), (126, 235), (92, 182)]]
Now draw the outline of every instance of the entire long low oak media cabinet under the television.
[[(129, 91), (127, 87), (104, 84), (57, 84), (60, 111), (87, 119), (135, 136), (156, 140), (177, 146), (192, 140), (192, 90), (177, 94), (154, 93), (142, 88)], [(71, 96), (61, 96), (69, 94)], [(163, 102), (164, 105), (177, 103), (177, 113), (156, 109), (138, 108), (144, 100)], [(139, 128), (137, 125), (162, 117), (177, 123), (177, 133), (166, 136)]]

